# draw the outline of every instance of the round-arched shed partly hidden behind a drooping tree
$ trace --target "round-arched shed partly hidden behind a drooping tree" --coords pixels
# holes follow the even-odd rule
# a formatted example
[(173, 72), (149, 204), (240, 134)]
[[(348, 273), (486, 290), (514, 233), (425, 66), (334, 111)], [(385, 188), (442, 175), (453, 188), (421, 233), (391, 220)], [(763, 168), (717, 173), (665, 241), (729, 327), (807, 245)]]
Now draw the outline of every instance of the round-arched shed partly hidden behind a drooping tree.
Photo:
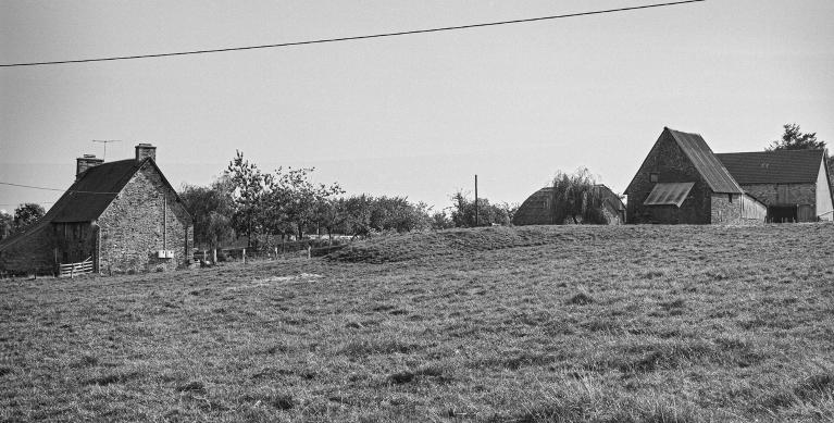
[[(606, 216), (609, 225), (621, 225), (625, 223), (625, 204), (620, 196), (614, 194), (605, 185), (595, 185), (596, 194), (602, 199), (602, 214)], [(519, 210), (512, 217), (512, 224), (523, 225), (555, 225), (556, 213), (553, 211), (556, 199), (553, 198), (553, 188), (545, 187), (527, 197), (521, 203)], [(568, 223), (573, 223), (571, 220)]]

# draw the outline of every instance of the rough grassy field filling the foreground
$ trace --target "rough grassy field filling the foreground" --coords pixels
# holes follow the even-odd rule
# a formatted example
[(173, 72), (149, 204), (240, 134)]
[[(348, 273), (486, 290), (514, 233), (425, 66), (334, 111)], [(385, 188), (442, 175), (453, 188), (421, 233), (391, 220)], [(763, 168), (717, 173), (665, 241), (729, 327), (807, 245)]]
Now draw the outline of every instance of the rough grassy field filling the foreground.
[(834, 421), (834, 225), (482, 228), (0, 283), (2, 421)]

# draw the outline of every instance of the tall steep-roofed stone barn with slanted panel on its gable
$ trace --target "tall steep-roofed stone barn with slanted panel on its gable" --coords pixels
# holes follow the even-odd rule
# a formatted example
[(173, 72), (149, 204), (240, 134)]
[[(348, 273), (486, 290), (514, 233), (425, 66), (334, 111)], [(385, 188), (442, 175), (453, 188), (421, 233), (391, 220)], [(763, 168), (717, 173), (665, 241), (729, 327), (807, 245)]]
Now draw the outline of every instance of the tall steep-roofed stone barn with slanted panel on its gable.
[(767, 213), (700, 135), (670, 128), (663, 128), (625, 194), (628, 223), (763, 223)]

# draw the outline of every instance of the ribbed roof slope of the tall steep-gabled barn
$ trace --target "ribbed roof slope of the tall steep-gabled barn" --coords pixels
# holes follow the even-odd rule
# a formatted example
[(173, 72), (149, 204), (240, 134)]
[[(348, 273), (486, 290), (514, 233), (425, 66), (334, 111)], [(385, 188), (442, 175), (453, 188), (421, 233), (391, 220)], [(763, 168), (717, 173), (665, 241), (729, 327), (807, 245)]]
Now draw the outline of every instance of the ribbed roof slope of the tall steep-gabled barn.
[(664, 128), (677, 141), (677, 145), (684, 151), (687, 158), (701, 174), (713, 192), (733, 192), (742, 194), (742, 187), (731, 176), (720, 160), (698, 134), (687, 134), (679, 130)]

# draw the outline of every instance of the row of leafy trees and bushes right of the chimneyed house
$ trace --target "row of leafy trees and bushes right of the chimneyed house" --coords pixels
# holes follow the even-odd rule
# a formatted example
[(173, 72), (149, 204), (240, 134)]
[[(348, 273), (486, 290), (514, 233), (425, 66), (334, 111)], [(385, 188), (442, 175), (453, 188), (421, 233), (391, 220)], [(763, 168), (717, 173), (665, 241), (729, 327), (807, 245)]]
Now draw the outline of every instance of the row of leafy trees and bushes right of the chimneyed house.
[[(263, 172), (237, 151), (223, 174), (209, 186), (184, 185), (179, 197), (194, 217), (195, 241), (219, 248), (237, 237), (250, 247), (309, 234), (351, 238), (386, 232), (411, 232), (508, 225), (516, 207), (475, 201), (459, 190), (452, 206), (435, 211), (404, 196), (345, 196), (338, 183), (312, 181), (314, 167), (278, 167)], [(447, 213), (447, 210), (449, 213)]]

